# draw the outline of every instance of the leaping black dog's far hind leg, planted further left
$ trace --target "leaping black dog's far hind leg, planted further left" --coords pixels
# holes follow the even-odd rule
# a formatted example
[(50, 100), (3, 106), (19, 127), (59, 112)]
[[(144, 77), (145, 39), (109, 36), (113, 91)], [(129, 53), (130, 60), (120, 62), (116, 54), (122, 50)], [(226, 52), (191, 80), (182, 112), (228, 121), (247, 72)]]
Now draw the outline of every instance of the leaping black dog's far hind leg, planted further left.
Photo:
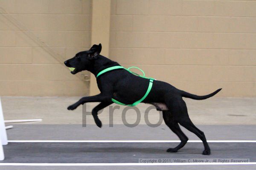
[(175, 148), (169, 148), (166, 152), (177, 152), (182, 148), (186, 142), (189, 140), (188, 137), (181, 131), (178, 122), (173, 119), (172, 113), (170, 111), (163, 111), (163, 120), (166, 125), (180, 138), (180, 144)]

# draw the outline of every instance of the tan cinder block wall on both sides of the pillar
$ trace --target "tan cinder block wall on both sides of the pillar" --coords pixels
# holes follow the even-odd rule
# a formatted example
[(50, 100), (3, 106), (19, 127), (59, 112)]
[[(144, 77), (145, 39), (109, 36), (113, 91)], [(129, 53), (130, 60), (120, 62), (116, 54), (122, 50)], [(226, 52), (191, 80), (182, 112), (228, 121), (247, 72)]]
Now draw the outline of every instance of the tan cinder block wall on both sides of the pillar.
[[(63, 60), (90, 47), (91, 0), (0, 7)], [(112, 0), (109, 56), (194, 94), (256, 96), (255, 9), (247, 0)], [(81, 96), (88, 86), (0, 14), (0, 96)]]

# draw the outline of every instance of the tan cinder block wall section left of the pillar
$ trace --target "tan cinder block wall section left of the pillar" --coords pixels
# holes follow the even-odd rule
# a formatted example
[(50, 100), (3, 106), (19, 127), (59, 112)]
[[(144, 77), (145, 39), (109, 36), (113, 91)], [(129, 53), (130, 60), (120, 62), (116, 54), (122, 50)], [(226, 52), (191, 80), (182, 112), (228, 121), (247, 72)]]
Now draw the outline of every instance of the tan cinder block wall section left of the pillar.
[[(63, 61), (90, 47), (90, 0), (0, 0), (0, 7)], [(0, 96), (87, 95), (88, 82), (69, 72), (0, 14)]]

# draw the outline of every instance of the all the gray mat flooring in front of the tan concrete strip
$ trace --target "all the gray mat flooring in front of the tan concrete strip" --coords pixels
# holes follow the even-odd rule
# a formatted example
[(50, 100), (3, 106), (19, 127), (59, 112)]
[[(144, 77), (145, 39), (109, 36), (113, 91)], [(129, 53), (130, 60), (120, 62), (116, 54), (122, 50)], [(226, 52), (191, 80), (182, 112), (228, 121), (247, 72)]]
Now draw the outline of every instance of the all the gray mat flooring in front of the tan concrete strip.
[[(148, 127), (138, 125), (17, 125), (7, 130), (9, 140), (178, 140), (166, 125)], [(196, 125), (204, 131), (207, 140), (256, 140), (256, 125)], [(182, 128), (189, 140), (199, 140), (193, 133)], [(256, 162), (254, 142), (210, 142), (212, 154), (202, 155), (203, 144), (187, 143), (177, 153), (166, 153), (169, 147), (178, 143), (63, 143), (10, 142), (3, 146), (6, 159), (0, 163), (138, 163), (148, 158), (248, 158)], [(175, 166), (0, 166), (0, 170), (124, 170), (124, 169), (225, 169), (253, 170), (256, 165), (175, 165)]]

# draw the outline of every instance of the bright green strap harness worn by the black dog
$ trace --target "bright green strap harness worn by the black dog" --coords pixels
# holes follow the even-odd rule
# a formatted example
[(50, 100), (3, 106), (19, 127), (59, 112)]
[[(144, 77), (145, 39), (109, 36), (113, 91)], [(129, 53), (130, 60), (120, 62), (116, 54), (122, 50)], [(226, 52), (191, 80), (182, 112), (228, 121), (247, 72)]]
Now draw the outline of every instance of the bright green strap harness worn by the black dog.
[(124, 67), (122, 67), (122, 66), (113, 66), (113, 67), (109, 67), (109, 68), (106, 68), (106, 69), (100, 71), (100, 72), (97, 74), (97, 76), (96, 76), (96, 78), (98, 78), (100, 75), (102, 75), (102, 74), (104, 74), (104, 73), (107, 73), (108, 71), (112, 71), (112, 70), (116, 70), (116, 69), (125, 69), (125, 70), (129, 71), (131, 74), (134, 74), (134, 75), (136, 75), (136, 76), (139, 76), (139, 77), (142, 77), (142, 78), (145, 78), (145, 79), (149, 79), (148, 90), (146, 91), (145, 95), (144, 95), (140, 100), (138, 100), (137, 102), (134, 102), (133, 104), (128, 105), (128, 104), (121, 103), (121, 102), (117, 101), (116, 99), (113, 99), (113, 98), (112, 98), (112, 99), (111, 99), (112, 102), (114, 102), (114, 103), (116, 103), (116, 104), (119, 104), (119, 105), (128, 105), (128, 106), (136, 106), (136, 105), (138, 105), (140, 102), (142, 102), (142, 101), (148, 96), (149, 92), (151, 91), (151, 88), (152, 88), (154, 79), (153, 79), (153, 78), (150, 78), (150, 77), (145, 77), (144, 71), (143, 71), (142, 69), (140, 69), (140, 68), (137, 68), (137, 69), (139, 69), (139, 70), (143, 73), (143, 76), (141, 76), (141, 75), (139, 75), (139, 74), (136, 74), (136, 73), (130, 71), (131, 68), (137, 68), (137, 67), (129, 67), (129, 68), (127, 69), (127, 68), (124, 68)]

